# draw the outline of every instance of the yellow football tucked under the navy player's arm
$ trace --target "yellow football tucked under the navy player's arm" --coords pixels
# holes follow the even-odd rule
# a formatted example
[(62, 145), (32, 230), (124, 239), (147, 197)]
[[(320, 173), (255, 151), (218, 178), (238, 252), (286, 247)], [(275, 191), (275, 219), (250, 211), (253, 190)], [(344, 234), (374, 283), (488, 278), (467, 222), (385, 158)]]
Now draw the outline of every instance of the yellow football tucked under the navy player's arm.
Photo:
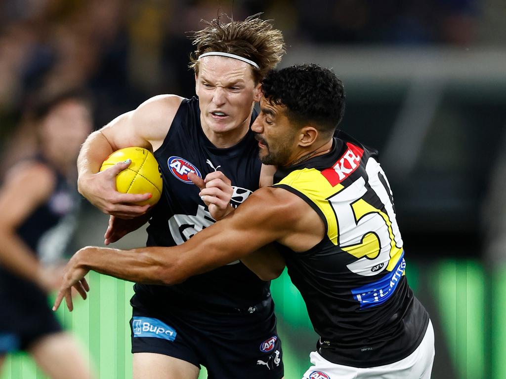
[(158, 162), (146, 149), (133, 147), (119, 149), (102, 163), (100, 171), (116, 163), (131, 159), (130, 166), (116, 176), (116, 189), (123, 194), (151, 194), (151, 199), (138, 202), (137, 205), (155, 205), (161, 196), (162, 179)]

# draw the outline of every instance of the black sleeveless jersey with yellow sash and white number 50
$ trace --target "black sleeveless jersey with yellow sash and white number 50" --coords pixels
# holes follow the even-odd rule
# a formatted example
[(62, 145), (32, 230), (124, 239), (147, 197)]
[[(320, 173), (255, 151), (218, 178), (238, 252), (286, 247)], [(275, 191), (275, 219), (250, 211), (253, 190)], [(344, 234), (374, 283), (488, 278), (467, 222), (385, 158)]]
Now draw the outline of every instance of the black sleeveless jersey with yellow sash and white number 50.
[(340, 131), (328, 154), (281, 167), (274, 182), (325, 223), (323, 240), (309, 251), (284, 249), (288, 274), (321, 336), (320, 354), (372, 367), (413, 352), (429, 315), (404, 276), (393, 195), (377, 153)]

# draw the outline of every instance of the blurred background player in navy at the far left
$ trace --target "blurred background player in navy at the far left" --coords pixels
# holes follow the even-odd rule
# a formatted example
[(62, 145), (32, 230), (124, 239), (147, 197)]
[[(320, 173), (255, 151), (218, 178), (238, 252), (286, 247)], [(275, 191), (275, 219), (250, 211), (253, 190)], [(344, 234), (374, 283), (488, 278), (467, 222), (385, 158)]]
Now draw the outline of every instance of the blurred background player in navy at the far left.
[(0, 366), (7, 353), (26, 351), (51, 378), (93, 377), (47, 298), (77, 221), (75, 159), (92, 130), (90, 112), (73, 91), (36, 106), (37, 151), (12, 166), (0, 188)]

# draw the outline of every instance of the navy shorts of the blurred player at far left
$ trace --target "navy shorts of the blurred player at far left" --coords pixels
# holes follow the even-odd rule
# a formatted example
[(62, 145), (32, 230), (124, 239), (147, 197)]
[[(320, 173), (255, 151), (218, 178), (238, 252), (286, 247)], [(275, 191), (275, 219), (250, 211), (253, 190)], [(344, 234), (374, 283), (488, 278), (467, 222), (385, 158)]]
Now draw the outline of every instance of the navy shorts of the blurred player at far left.
[(0, 274), (0, 355), (26, 350), (40, 338), (62, 331), (43, 291), (5, 271)]

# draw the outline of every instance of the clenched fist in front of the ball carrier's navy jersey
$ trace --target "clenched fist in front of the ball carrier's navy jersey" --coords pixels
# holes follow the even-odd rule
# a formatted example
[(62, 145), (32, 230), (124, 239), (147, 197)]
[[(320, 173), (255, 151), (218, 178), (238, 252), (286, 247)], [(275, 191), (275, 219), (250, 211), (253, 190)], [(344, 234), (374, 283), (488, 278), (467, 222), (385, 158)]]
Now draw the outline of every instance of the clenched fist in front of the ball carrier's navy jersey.
[(199, 196), (208, 207), (211, 217), (218, 221), (232, 212), (230, 199), (234, 194), (234, 188), (223, 172), (211, 172), (204, 179), (190, 173), (188, 178), (200, 188)]

